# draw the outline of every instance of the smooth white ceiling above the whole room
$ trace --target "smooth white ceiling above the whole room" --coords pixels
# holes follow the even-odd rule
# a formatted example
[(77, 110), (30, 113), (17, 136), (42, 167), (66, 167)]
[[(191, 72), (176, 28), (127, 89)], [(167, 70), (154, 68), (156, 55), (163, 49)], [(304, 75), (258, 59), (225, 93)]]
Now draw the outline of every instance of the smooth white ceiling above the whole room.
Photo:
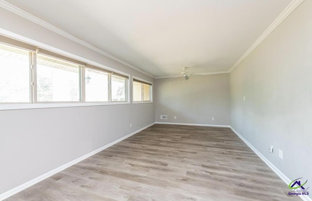
[(292, 0), (6, 0), (155, 77), (229, 70)]

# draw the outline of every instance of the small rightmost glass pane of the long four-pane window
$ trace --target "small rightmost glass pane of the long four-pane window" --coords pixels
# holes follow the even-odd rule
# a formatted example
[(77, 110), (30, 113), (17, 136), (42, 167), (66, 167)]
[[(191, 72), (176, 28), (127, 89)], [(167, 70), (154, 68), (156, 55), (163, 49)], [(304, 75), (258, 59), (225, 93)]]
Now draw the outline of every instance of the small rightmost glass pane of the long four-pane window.
[(112, 75), (111, 83), (112, 101), (127, 101), (127, 79)]

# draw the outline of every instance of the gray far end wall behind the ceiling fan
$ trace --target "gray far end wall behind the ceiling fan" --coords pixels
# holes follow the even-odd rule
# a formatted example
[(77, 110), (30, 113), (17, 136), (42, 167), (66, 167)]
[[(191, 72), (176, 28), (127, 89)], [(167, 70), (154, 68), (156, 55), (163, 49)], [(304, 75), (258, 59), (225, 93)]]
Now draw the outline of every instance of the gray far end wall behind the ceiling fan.
[(230, 125), (229, 74), (156, 79), (154, 100), (156, 121)]

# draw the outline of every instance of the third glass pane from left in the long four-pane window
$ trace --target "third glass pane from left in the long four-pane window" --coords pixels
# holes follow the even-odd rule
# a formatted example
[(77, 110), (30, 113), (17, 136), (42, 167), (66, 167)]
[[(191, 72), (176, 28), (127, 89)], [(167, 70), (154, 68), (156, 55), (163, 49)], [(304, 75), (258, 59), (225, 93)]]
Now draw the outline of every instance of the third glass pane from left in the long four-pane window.
[(85, 69), (86, 101), (108, 101), (108, 73)]

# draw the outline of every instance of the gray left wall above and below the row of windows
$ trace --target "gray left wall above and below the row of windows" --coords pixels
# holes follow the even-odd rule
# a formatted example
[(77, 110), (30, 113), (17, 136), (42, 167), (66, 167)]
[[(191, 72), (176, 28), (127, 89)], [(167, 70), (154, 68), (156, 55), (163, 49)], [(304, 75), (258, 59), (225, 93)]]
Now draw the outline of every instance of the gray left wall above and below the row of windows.
[[(8, 11), (0, 18), (2, 29), (154, 82)], [(153, 122), (154, 103), (0, 111), (0, 194)]]

